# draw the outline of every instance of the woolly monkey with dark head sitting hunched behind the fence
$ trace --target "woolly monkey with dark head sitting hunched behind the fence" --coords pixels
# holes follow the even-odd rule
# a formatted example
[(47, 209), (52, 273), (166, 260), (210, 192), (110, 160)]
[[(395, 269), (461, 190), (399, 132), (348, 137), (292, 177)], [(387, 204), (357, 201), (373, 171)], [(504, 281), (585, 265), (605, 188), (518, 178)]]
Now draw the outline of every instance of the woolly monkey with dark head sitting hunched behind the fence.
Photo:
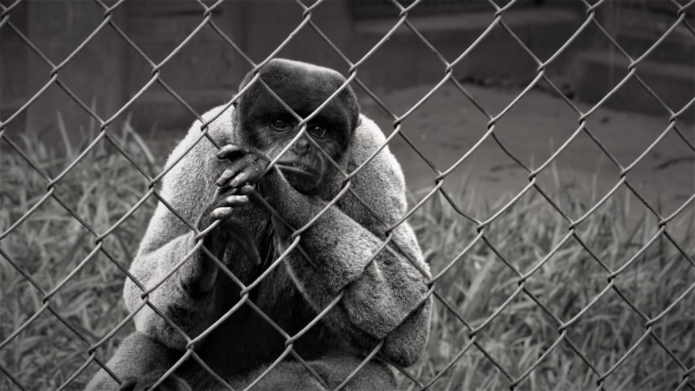
[[(382, 131), (360, 112), (350, 85), (337, 92), (346, 79), (334, 69), (275, 58), (254, 77), (245, 76), (234, 104), (202, 115), (216, 117), (207, 134), (220, 149), (202, 138), (196, 121), (168, 158), (160, 193), (166, 202), (158, 203), (130, 269), (146, 289), (156, 288), (143, 298), (126, 278), (126, 308), (140, 309), (136, 331), (106, 365), (120, 385), (100, 369), (87, 390), (149, 389), (186, 353), (180, 331), (196, 338), (225, 315), (193, 351), (235, 389), (336, 388), (381, 344), (346, 388), (389, 390), (395, 377), (386, 363), (408, 367), (423, 354), (430, 268), (407, 222), (386, 231), (405, 215), (407, 200), (398, 161), (388, 145), (379, 150)], [(302, 119), (328, 102), (298, 126), (278, 98)], [(344, 173), (361, 165), (349, 181), (354, 194), (334, 201)], [(202, 247), (190, 224), (206, 232)], [(264, 273), (252, 289), (240, 288)], [(254, 383), (300, 331), (291, 343), (301, 360), (288, 354)], [(189, 357), (160, 388), (225, 385)]]

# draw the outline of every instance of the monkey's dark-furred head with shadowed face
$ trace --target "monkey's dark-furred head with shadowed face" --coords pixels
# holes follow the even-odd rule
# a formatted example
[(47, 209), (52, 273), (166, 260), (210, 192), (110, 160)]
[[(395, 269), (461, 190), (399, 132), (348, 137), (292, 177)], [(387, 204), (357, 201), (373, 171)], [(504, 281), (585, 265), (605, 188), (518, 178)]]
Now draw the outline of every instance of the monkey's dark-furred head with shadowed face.
[[(274, 59), (261, 68), (261, 80), (287, 106), (305, 118), (345, 82), (333, 69), (293, 60)], [(253, 78), (247, 74), (243, 89)], [(348, 86), (309, 121), (306, 131), (338, 164), (346, 165), (347, 149), (359, 120), (359, 106)], [(256, 81), (236, 103), (234, 139), (275, 158), (300, 131), (298, 121)], [(305, 137), (281, 156), (278, 167), (295, 189), (305, 194), (320, 191), (321, 183), (334, 176), (334, 167)]]

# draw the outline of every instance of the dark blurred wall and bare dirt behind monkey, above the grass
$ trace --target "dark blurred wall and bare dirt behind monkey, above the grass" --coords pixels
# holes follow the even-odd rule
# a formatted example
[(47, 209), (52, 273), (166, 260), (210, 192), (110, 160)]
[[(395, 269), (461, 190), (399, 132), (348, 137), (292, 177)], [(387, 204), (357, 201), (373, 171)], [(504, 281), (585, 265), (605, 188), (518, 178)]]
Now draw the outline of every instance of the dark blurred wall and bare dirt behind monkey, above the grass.
[[(411, 2), (402, 4), (408, 6)], [(11, 3), (3, 0), (6, 6)], [(504, 6), (508, 2), (498, 3)], [(505, 11), (503, 20), (518, 40), (545, 61), (587, 20), (586, 4), (579, 0), (519, 0)], [(179, 47), (202, 22), (201, 9), (196, 1), (185, 0), (122, 3), (113, 11), (112, 20), (142, 53), (111, 28), (104, 28), (60, 69), (60, 80), (86, 105), (95, 108), (102, 119), (108, 119), (151, 81), (153, 65), (142, 54), (158, 64), (178, 48), (179, 52), (158, 69), (161, 79), (197, 113), (228, 101), (252, 66), (209, 26)], [(605, 1), (596, 8), (596, 19), (635, 59), (669, 30), (677, 10), (666, 0)], [(356, 63), (395, 26), (399, 12), (389, 0), (330, 0), (313, 10), (311, 21)], [(443, 58), (452, 62), (493, 22), (494, 12), (486, 0), (429, 0), (411, 10), (408, 20)], [(97, 3), (79, 0), (22, 1), (8, 15), (10, 22), (58, 65), (101, 24), (103, 14), (104, 9)], [(686, 16), (692, 22), (693, 16)], [(212, 20), (258, 63), (302, 22), (302, 9), (294, 1), (232, 0), (215, 8)], [(8, 118), (49, 81), (51, 67), (13, 29), (5, 26), (0, 33), (0, 115)], [(332, 67), (343, 74), (350, 69), (310, 26), (297, 32), (277, 56)], [(695, 96), (694, 62), (693, 35), (679, 24), (639, 64), (639, 77), (672, 110), (678, 111)], [(607, 36), (589, 24), (546, 67), (546, 75), (567, 97), (588, 110), (628, 74), (628, 64)], [(453, 75), (471, 85), (473, 96), (494, 116), (537, 76), (537, 68), (532, 56), (498, 24), (457, 63)], [(441, 60), (407, 26), (401, 25), (360, 64), (358, 77), (378, 94), (391, 113), (400, 116), (441, 81), (444, 71)], [(393, 131), (392, 116), (361, 88), (353, 87), (360, 95), (363, 111), (374, 117), (385, 133)], [(669, 124), (667, 110), (635, 78), (630, 78), (600, 108), (614, 110), (600, 110), (588, 122), (594, 131), (605, 133), (604, 141), (611, 151), (624, 152), (619, 155), (624, 164), (637, 158)], [(685, 110), (679, 122), (688, 135), (692, 135), (694, 113), (692, 107)], [(71, 142), (81, 138), (80, 129), (90, 122), (88, 113), (54, 84), (10, 122), (7, 131), (33, 132), (51, 140), (58, 135), (58, 115)], [(185, 106), (154, 83), (114, 119), (113, 125), (128, 120), (151, 149), (164, 154), (194, 119)], [(487, 120), (463, 94), (455, 92), (452, 83), (446, 83), (421, 110), (407, 118), (403, 131), (418, 140), (418, 147), (443, 171), (484, 134)], [(530, 163), (534, 158), (539, 163), (575, 131), (578, 115), (540, 81), (498, 125), (502, 127), (498, 129), (500, 138), (515, 144), (523, 162)], [(629, 146), (624, 145), (626, 135), (630, 137)], [(670, 140), (667, 137), (651, 154), (650, 167), (639, 167), (633, 178), (639, 176), (648, 188), (668, 189), (672, 194), (661, 201), (676, 206), (691, 194), (693, 156), (685, 144), (679, 140), (669, 144)], [(616, 151), (612, 143), (620, 146), (621, 151)], [(515, 172), (518, 166), (497, 156), (499, 149), (494, 143), (487, 144), (473, 154), (474, 162), (468, 165), (475, 180), (482, 181), (484, 193), (502, 194), (510, 187), (509, 181), (525, 184), (523, 175)], [(590, 141), (583, 144), (580, 138), (556, 160), (569, 171), (566, 178), (571, 180), (576, 175), (578, 181), (585, 181), (604, 167), (603, 154), (591, 150), (592, 145)], [(624, 151), (626, 147), (634, 149)], [(395, 138), (391, 148), (407, 165), (405, 172), (412, 190), (434, 186), (432, 169), (422, 159), (411, 158), (411, 148), (400, 138)], [(682, 171), (673, 171), (684, 167)], [(618, 173), (605, 172), (610, 175), (610, 182)], [(519, 175), (522, 177), (516, 178)]]

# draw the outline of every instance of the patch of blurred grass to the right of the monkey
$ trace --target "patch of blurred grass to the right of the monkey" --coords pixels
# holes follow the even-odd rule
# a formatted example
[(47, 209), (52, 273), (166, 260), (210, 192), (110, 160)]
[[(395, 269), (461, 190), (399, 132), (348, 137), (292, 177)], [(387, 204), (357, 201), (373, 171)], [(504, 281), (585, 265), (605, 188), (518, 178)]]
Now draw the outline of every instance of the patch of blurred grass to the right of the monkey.
[[(532, 190), (533, 192), (533, 190)], [(620, 193), (619, 193), (620, 194)], [(465, 199), (466, 194), (464, 194)], [(554, 201), (570, 216), (587, 211), (578, 194), (558, 186)], [(636, 218), (635, 206), (612, 197), (577, 227), (577, 233), (600, 260), (619, 269), (657, 232), (657, 222), (644, 215)], [(411, 220), (433, 274), (449, 265), (476, 235), (468, 222), (443, 199), (432, 200)], [(596, 199), (589, 205), (594, 205)], [(459, 202), (464, 204), (463, 202)], [(492, 208), (497, 210), (501, 204)], [(493, 213), (471, 215), (490, 216)], [(661, 235), (634, 263), (616, 278), (616, 287), (648, 317), (662, 313), (695, 283), (693, 208), (683, 213), (682, 225), (669, 227), (680, 233), (677, 243), (685, 255)], [(523, 197), (512, 210), (486, 228), (486, 237), (509, 263), (526, 273), (537, 265), (569, 231), (539, 194)], [(688, 260), (689, 258), (689, 260)], [(526, 288), (562, 322), (568, 322), (607, 287), (608, 272), (588, 251), (570, 238), (530, 278)], [(436, 284), (437, 291), (472, 328), (482, 324), (518, 289), (518, 275), (484, 242)], [(568, 328), (567, 337), (601, 374), (607, 372), (646, 332), (646, 321), (614, 290), (608, 292)], [(423, 383), (439, 374), (471, 342), (469, 331), (455, 315), (435, 299), (432, 336), (421, 365), (409, 369)], [(559, 338), (559, 325), (524, 292), (475, 336), (509, 376), (517, 378), (532, 367)], [(690, 292), (651, 330), (673, 351), (685, 367), (695, 365), (695, 293)], [(607, 377), (608, 390), (675, 389), (684, 370), (648, 337)], [(591, 371), (569, 344), (560, 342), (521, 382), (531, 390), (596, 389), (599, 375)], [(692, 381), (691, 376), (691, 381)], [(400, 377), (401, 388), (414, 388)], [(436, 390), (503, 390), (512, 381), (473, 346), (439, 378)], [(692, 384), (692, 383), (691, 383)]]

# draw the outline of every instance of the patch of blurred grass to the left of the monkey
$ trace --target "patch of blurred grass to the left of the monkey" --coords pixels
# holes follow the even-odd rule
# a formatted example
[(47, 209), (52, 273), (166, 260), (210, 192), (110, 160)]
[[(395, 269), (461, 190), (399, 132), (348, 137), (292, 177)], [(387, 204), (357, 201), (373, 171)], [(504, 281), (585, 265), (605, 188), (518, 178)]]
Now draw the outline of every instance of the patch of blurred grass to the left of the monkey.
[[(65, 132), (63, 135), (67, 137)], [(95, 126), (92, 126), (85, 140), (93, 140), (95, 136)], [(85, 147), (83, 144), (79, 148), (70, 148), (70, 142), (64, 141), (66, 154), (58, 158), (44, 142), (26, 135), (20, 135), (20, 138), (19, 147), (50, 178), (60, 174)], [(144, 149), (144, 144), (129, 126), (124, 126), (116, 138), (145, 172), (154, 173), (161, 167), (161, 162), (152, 158), (152, 153)], [(3, 145), (3, 149), (6, 147)], [(46, 194), (47, 181), (9, 148), (2, 153), (0, 175), (0, 231), (5, 231)], [(55, 194), (95, 231), (103, 233), (147, 192), (147, 184), (145, 176), (108, 141), (101, 140), (58, 183)], [(154, 206), (154, 201), (146, 202), (104, 240), (104, 248), (126, 266), (134, 256)], [(0, 248), (43, 290), (31, 285), (6, 258), (0, 256), (0, 340), (5, 340), (29, 317), (38, 313), (44, 294), (95, 249), (95, 235), (58, 201), (49, 198), (3, 238)], [(95, 343), (124, 317), (120, 299), (123, 281), (124, 274), (103, 253), (97, 253), (51, 297), (51, 308), (89, 343)], [(132, 330), (131, 325), (118, 336), (122, 338), (129, 330)], [(108, 342), (99, 351), (99, 357), (108, 359), (116, 343), (117, 340)], [(31, 326), (3, 347), (0, 365), (27, 390), (56, 390), (88, 359), (88, 347), (89, 344), (78, 338), (68, 326), (49, 311), (44, 311)], [(70, 388), (83, 388), (96, 369), (97, 366), (92, 364)], [(0, 389), (16, 389), (16, 386), (0, 374)]]

